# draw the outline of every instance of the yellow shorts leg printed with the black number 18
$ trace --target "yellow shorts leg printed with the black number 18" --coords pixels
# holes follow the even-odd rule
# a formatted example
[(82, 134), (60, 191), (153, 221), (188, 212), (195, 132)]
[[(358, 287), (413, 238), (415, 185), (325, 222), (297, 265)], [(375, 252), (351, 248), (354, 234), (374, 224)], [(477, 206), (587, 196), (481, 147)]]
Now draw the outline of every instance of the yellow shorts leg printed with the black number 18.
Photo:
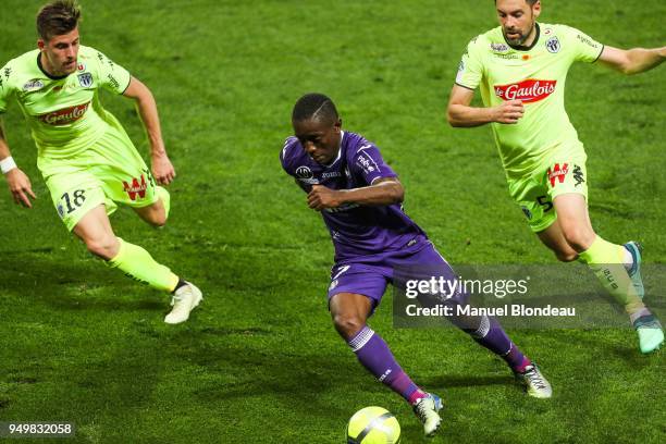
[(46, 177), (58, 215), (69, 231), (92, 209), (106, 206), (107, 211), (115, 207), (104, 197), (102, 183), (88, 170), (65, 163), (50, 170)]

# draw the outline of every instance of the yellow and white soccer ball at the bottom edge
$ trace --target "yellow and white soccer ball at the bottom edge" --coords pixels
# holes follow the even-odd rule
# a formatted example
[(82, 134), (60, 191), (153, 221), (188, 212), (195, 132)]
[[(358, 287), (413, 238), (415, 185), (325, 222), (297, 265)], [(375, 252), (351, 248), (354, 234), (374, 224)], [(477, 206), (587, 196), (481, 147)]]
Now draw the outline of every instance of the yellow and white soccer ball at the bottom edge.
[(347, 444), (397, 444), (400, 424), (393, 414), (381, 407), (358, 410), (347, 424)]

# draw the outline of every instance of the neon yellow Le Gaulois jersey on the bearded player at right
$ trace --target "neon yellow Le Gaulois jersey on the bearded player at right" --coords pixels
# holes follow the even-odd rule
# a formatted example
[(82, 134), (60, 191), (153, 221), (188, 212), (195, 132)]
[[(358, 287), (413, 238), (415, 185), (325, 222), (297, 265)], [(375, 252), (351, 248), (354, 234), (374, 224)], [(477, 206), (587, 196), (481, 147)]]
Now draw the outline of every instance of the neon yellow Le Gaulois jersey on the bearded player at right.
[(509, 46), (502, 27), (473, 38), (458, 67), (456, 84), (481, 90), (485, 107), (522, 100), (517, 124), (493, 123), (493, 134), (509, 178), (544, 164), (554, 150), (582, 151), (565, 111), (565, 83), (576, 61), (594, 62), (603, 46), (578, 29), (536, 24), (530, 48)]

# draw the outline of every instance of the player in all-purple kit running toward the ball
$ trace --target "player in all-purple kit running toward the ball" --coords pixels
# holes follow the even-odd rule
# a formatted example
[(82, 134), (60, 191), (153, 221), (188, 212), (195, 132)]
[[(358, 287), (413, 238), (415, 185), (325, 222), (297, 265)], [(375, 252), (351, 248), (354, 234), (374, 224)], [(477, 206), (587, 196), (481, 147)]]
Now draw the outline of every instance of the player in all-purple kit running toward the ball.
[[(416, 385), (381, 336), (367, 325), (396, 269), (422, 268), (455, 280), (448, 263), (425, 233), (402, 208), (404, 187), (379, 149), (362, 136), (342, 131), (333, 101), (308, 94), (296, 102), (288, 137), (280, 155), (285, 172), (306, 192), (308, 206), (320, 211), (335, 247), (329, 308), (335, 329), (360, 363), (402, 395), (432, 436), (440, 427), (442, 400)], [(452, 297), (446, 304), (462, 304)], [(501, 356), (529, 395), (547, 398), (551, 385), (490, 317), (452, 321), (474, 341)]]

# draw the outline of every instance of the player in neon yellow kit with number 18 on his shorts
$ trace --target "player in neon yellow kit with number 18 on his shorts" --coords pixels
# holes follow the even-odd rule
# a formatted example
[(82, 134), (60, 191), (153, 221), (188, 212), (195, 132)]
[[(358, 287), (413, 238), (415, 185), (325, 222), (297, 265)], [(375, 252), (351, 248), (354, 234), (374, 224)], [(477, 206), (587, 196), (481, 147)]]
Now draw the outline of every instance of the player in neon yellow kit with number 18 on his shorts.
[[(0, 116), (10, 98), (25, 115), (38, 149), (37, 166), (67, 230), (94, 255), (137, 281), (172, 294), (166, 323), (187, 320), (201, 292), (158, 263), (144, 248), (116, 237), (108, 214), (132, 207), (155, 226), (169, 215), (168, 185), (175, 171), (150, 90), (101, 52), (79, 45), (75, 0), (55, 0), (37, 15), (37, 50), (0, 70)], [(152, 168), (99, 101), (104, 88), (133, 99), (148, 134)], [(11, 157), (0, 121), (0, 168), (16, 203), (30, 208), (30, 181)], [(157, 182), (157, 183), (156, 183)]]

